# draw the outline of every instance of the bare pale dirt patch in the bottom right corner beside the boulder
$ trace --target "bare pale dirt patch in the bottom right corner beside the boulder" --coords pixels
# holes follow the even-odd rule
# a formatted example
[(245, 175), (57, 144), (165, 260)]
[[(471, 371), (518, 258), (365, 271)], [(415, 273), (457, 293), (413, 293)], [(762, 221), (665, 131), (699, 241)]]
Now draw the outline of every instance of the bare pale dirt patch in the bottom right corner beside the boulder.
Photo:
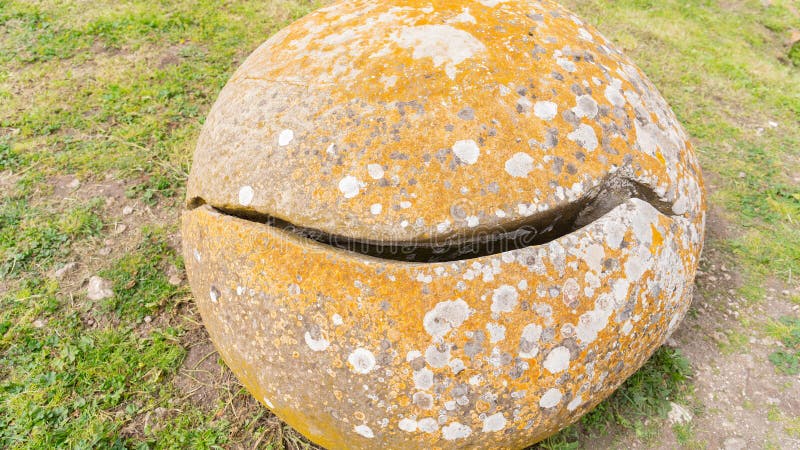
[[(800, 378), (782, 375), (767, 359), (776, 342), (763, 337), (763, 321), (796, 314), (786, 301), (765, 300), (745, 306), (724, 296), (703, 298), (674, 336), (695, 369), (696, 398), (704, 412), (694, 422), (696, 437), (708, 448), (800, 448), (770, 411), (800, 417)], [(735, 311), (737, 314), (732, 314)], [(739, 317), (755, 318), (744, 327)], [(665, 443), (663, 448), (671, 448)]]

